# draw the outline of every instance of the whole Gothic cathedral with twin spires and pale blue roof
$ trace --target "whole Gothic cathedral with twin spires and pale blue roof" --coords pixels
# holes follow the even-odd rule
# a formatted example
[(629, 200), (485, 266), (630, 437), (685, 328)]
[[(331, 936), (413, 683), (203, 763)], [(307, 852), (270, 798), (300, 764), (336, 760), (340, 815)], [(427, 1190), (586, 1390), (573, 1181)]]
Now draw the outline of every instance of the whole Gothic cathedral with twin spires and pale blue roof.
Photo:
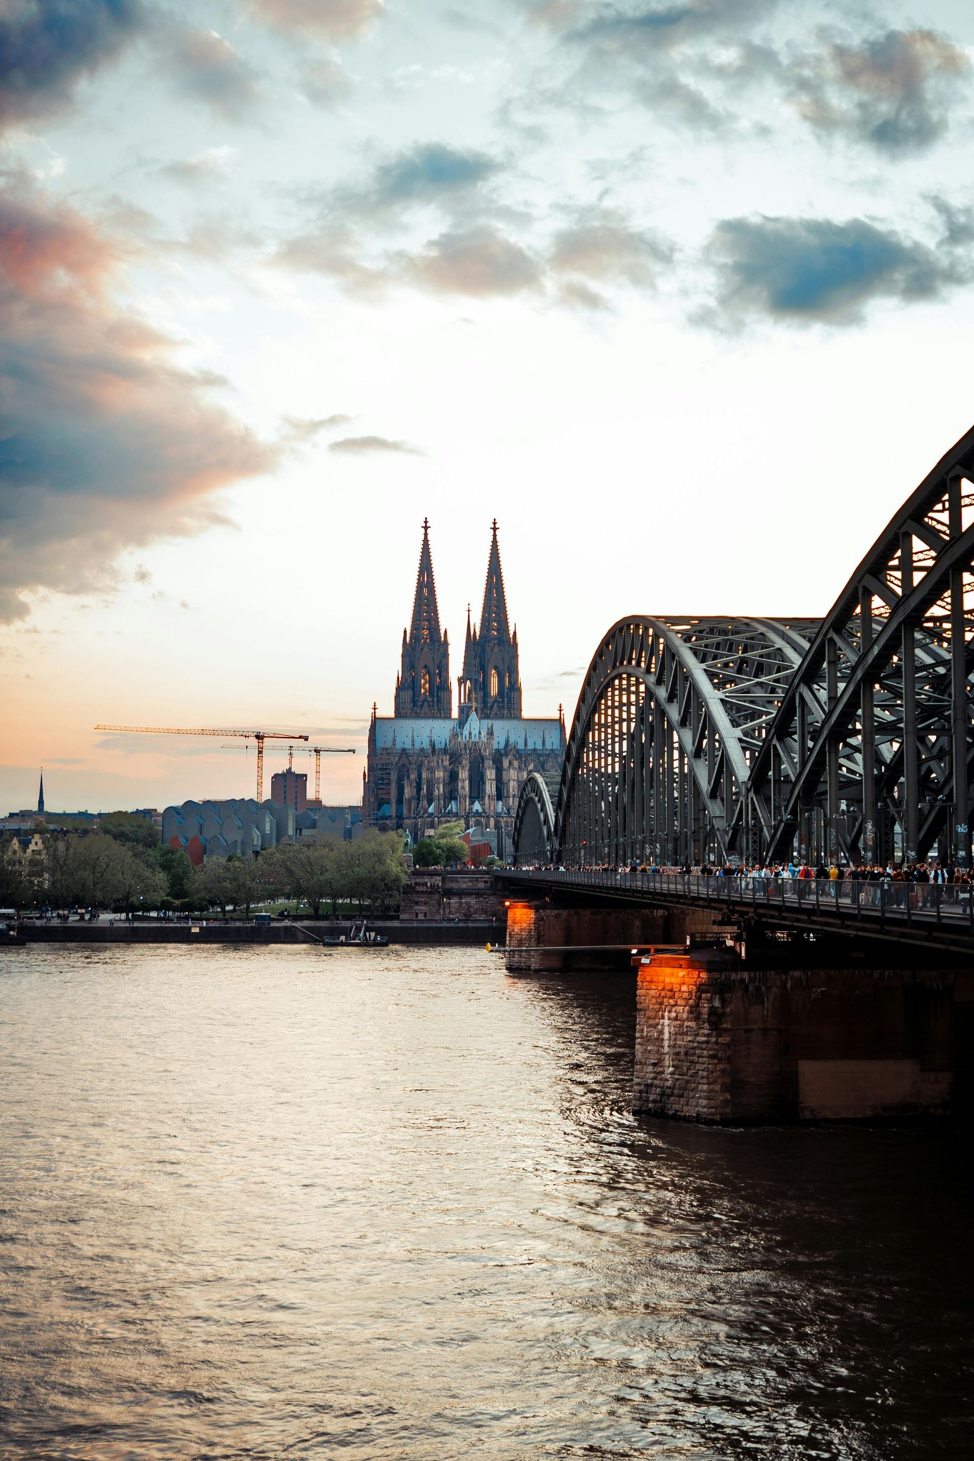
[(415, 843), (440, 823), (463, 818), (466, 827), (492, 831), (504, 858), (524, 777), (530, 771), (561, 771), (565, 720), (561, 713), (558, 719), (521, 714), (517, 628), (511, 633), (507, 615), (496, 522), (479, 624), (470, 622), (467, 609), (456, 716), (450, 638), (440, 628), (429, 523), (423, 522), (394, 712), (380, 716), (372, 707), (364, 773), (365, 824), (402, 828)]

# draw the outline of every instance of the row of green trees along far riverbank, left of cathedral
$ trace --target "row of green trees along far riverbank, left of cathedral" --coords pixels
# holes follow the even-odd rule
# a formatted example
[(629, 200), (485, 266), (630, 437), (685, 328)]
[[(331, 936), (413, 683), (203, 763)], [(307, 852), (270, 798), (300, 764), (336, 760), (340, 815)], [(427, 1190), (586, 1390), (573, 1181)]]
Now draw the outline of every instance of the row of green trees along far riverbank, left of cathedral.
[(355, 903), (362, 912), (399, 906), (406, 865), (397, 833), (367, 831), (353, 842), (302, 837), (257, 856), (207, 858), (196, 868), (159, 840), (159, 830), (130, 812), (102, 817), (98, 831), (48, 833), (42, 853), (23, 856), (0, 843), (0, 906), (98, 907), (129, 913), (169, 909), (250, 909), (275, 899), (307, 903), (315, 916)]

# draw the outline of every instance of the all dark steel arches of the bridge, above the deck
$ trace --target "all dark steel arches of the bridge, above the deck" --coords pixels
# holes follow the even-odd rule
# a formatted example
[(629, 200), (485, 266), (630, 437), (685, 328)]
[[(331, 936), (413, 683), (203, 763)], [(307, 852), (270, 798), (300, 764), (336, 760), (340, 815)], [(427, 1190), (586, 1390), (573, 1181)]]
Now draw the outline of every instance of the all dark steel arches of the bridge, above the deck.
[(619, 619), (588, 666), (556, 795), (518, 865), (970, 865), (974, 428), (824, 619)]

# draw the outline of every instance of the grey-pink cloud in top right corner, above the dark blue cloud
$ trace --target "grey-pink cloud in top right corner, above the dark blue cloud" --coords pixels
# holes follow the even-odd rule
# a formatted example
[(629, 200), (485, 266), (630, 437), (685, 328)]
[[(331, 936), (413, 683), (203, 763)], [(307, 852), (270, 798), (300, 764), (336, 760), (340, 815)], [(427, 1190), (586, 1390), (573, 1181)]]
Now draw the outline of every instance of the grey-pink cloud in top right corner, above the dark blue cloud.
[(965, 53), (936, 31), (886, 31), (857, 44), (832, 41), (793, 63), (790, 76), (793, 102), (812, 127), (895, 155), (943, 134), (970, 72)]

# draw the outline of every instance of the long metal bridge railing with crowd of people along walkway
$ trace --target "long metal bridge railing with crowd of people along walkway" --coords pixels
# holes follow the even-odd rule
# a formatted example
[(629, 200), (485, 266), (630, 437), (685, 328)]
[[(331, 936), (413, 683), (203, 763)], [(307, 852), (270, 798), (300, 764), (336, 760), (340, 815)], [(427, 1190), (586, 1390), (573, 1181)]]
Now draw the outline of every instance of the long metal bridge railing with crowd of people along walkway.
[(765, 878), (753, 874), (704, 877), (683, 872), (626, 872), (605, 868), (518, 869), (527, 878), (606, 891), (650, 893), (714, 903), (751, 903), (765, 907), (821, 909), (961, 920), (974, 931), (974, 884), (863, 882), (854, 878)]

